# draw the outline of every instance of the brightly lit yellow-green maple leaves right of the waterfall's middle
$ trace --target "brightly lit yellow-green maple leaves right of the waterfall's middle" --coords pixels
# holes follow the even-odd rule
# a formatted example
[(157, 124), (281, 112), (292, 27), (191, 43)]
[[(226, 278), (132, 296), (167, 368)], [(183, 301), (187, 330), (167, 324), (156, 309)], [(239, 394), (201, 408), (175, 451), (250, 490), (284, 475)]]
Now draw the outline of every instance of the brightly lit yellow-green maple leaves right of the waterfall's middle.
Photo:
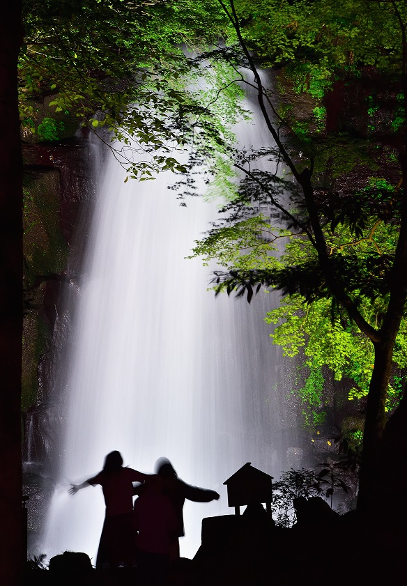
[[(381, 184), (382, 180), (374, 182), (374, 185)], [(246, 192), (246, 195), (249, 196), (249, 193)], [(252, 196), (253, 201), (256, 201), (255, 194)], [(239, 205), (237, 199), (228, 206), (232, 217), (243, 213), (238, 208)], [(248, 213), (246, 208), (245, 214)], [(254, 206), (252, 213), (258, 213)], [(353, 238), (344, 226), (337, 226), (335, 231), (325, 229), (325, 238), (330, 249), (338, 249), (341, 254), (350, 254), (351, 257), (355, 255), (358, 258), (366, 257), (371, 251), (378, 252), (381, 256), (392, 254), (394, 242), (398, 238), (398, 225), (385, 224), (383, 220), (374, 217), (369, 221), (373, 223), (374, 229), (367, 226), (363, 231), (364, 236), (358, 238)], [(284, 252), (281, 252), (279, 242), (284, 243)], [(233, 267), (235, 271), (266, 268), (281, 270), (312, 259), (314, 249), (309, 240), (298, 231), (271, 229), (270, 219), (254, 216), (233, 224), (226, 222), (222, 228), (210, 231), (205, 240), (197, 242), (192, 256), (203, 257), (206, 265), (211, 259), (216, 259), (220, 265)], [(369, 322), (378, 323), (386, 304), (385, 297), (375, 291), (373, 298), (369, 299), (364, 295), (361, 301), (360, 310), (363, 315)], [(300, 397), (305, 415), (304, 423), (307, 426), (325, 421), (327, 413), (323, 409), (324, 385), (325, 381), (328, 382), (328, 377), (329, 380), (337, 381), (346, 377), (350, 400), (363, 399), (369, 392), (374, 347), (349, 320), (345, 311), (341, 311), (340, 307), (333, 309), (334, 311), (330, 298), (309, 303), (305, 295), (293, 293), (282, 299), (280, 307), (268, 311), (266, 315), (267, 323), (277, 325), (273, 334), (270, 334), (273, 343), (282, 346), (286, 356), (300, 355), (300, 376), (295, 377), (293, 392)], [(397, 407), (401, 396), (401, 381), (407, 366), (405, 327), (403, 321), (394, 347), (387, 413)], [(360, 407), (363, 405), (364, 401)]]

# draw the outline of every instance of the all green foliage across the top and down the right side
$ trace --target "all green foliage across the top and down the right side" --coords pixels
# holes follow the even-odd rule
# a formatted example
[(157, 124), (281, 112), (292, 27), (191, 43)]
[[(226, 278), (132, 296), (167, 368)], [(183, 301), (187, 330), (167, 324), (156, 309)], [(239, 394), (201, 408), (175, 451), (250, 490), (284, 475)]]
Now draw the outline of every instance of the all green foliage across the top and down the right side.
[[(286, 355), (304, 350), (309, 376), (300, 396), (309, 406), (309, 423), (316, 424), (323, 417), (323, 368), (336, 380), (351, 378), (350, 398), (362, 397), (374, 362), (371, 342), (339, 307), (326, 265), (329, 261), (331, 275), (355, 310), (380, 327), (403, 196), (401, 188), (379, 176), (369, 145), (345, 135), (322, 139), (321, 100), (335, 79), (357, 76), (363, 65), (401, 74), (395, 8), (404, 22), (407, 8), (397, 0), (236, 0), (235, 6), (243, 39), (256, 59), (284, 68), (294, 91), (316, 100), (310, 122), (317, 139), (301, 120), (288, 129), (294, 134), (291, 142), (257, 151), (234, 144), (231, 128), (247, 118), (239, 100), (242, 71), (250, 63), (216, 0), (26, 0), (26, 43), (19, 64), (22, 124), (34, 132), (36, 102), (52, 95), (56, 114), (68, 112), (91, 130), (107, 130), (107, 141), (112, 137), (130, 178), (150, 180), (160, 170), (171, 170), (180, 176), (175, 189), (196, 193), (193, 175), (203, 169), (208, 196), (221, 194), (226, 203), (222, 218), (196, 243), (192, 256), (203, 256), (205, 263), (216, 260), (227, 269), (215, 273), (217, 293), (235, 291), (251, 300), (263, 287), (278, 288), (285, 296), (268, 321), (279, 324), (273, 341)], [(220, 37), (226, 46), (210, 46)], [(201, 54), (184, 54), (181, 44)], [(268, 107), (284, 118), (276, 116), (277, 141), (293, 109), (277, 109), (272, 94), (260, 90)], [(375, 100), (372, 96), (367, 105), (372, 120)], [(403, 100), (394, 131), (404, 125)], [(55, 140), (57, 131), (50, 116), (38, 125), (43, 139)], [(190, 160), (178, 162), (174, 152), (188, 144), (193, 145)], [(336, 188), (335, 180), (362, 165), (377, 176), (362, 187)], [(302, 191), (306, 169), (314, 171), (314, 211), (329, 257), (324, 266)], [(33, 222), (28, 226), (33, 229)], [(281, 256), (279, 240), (287, 243)], [(407, 364), (404, 334), (405, 324), (394, 347), (399, 370)], [(392, 380), (392, 405), (398, 389)]]

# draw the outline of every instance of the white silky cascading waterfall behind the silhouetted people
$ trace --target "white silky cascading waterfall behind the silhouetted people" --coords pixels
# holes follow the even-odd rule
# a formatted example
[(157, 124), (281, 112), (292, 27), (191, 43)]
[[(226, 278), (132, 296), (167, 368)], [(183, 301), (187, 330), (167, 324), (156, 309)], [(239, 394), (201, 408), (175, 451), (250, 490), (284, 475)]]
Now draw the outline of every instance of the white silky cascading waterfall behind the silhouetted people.
[[(240, 125), (242, 144), (267, 144), (255, 122)], [(63, 472), (41, 548), (48, 557), (75, 550), (95, 560), (102, 491), (70, 497), (68, 483), (98, 472), (118, 449), (125, 465), (144, 472), (167, 456), (179, 477), (220, 493), (218, 502), (185, 503), (181, 555), (193, 557), (201, 519), (233, 513), (224, 480), (247, 461), (273, 476), (286, 467), (282, 356), (263, 322), (277, 300), (215, 298), (206, 291), (210, 270), (185, 259), (216, 203), (179, 206), (167, 190), (171, 174), (124, 183), (112, 156), (97, 171), (98, 201), (71, 293)]]

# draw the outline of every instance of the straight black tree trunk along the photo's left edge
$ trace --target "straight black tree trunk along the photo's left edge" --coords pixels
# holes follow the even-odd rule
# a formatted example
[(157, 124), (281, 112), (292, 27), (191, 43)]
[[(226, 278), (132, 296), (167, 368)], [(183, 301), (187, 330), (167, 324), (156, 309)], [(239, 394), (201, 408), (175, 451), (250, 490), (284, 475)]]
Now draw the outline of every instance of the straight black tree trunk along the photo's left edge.
[(17, 57), (21, 2), (4, 3), (0, 35), (0, 576), (20, 584), (22, 562), (22, 155)]

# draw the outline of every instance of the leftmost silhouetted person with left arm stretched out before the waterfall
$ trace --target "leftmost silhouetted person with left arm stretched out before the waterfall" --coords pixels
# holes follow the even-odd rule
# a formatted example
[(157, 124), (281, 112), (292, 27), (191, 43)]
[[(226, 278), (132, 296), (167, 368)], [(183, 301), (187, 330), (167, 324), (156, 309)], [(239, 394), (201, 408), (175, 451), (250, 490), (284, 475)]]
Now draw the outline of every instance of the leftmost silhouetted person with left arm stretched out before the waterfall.
[(144, 482), (147, 476), (132, 468), (123, 468), (123, 458), (120, 452), (115, 451), (107, 454), (99, 474), (82, 484), (72, 484), (69, 489), (69, 493), (75, 495), (81, 488), (96, 484), (102, 486), (106, 511), (96, 569), (117, 567), (120, 564), (131, 566), (134, 552), (132, 482)]

